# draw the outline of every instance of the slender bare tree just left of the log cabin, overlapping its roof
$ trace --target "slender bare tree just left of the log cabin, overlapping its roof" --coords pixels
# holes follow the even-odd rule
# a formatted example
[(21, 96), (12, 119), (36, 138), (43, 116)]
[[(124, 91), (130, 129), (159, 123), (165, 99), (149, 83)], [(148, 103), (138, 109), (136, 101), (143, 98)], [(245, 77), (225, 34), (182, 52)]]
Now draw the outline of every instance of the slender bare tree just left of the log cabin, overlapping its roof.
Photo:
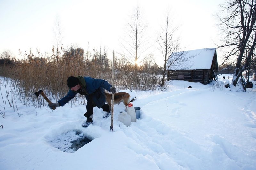
[[(178, 30), (178, 27), (173, 27), (172, 21), (170, 19), (170, 12), (167, 12), (165, 18), (164, 27), (161, 27), (161, 31), (157, 34), (157, 43), (159, 45), (159, 50), (163, 55), (164, 60), (164, 67), (161, 68), (162, 70), (162, 81), (161, 87), (164, 86), (165, 75), (167, 73), (167, 69), (171, 67), (171, 54), (173, 52), (177, 52), (180, 50), (180, 39), (175, 35)], [(181, 56), (180, 56), (181, 57)], [(180, 59), (180, 58), (176, 58)], [(159, 67), (160, 68), (160, 67)]]

